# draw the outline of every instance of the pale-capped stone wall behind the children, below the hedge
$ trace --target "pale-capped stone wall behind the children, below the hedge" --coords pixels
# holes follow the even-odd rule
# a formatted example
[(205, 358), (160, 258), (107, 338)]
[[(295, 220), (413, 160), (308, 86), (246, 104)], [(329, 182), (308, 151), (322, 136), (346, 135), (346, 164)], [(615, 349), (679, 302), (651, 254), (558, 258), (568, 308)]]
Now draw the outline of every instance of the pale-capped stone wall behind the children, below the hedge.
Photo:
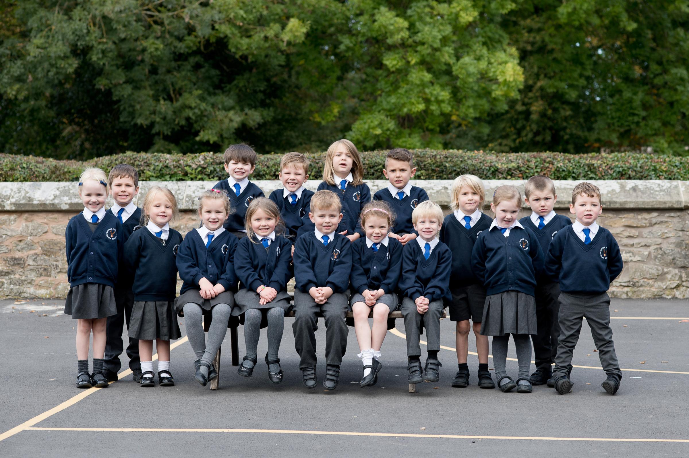
[[(446, 211), (451, 180), (417, 180), (431, 200)], [(568, 211), (577, 182), (559, 181), (556, 210)], [(689, 298), (689, 182), (595, 181), (603, 193), (599, 223), (619, 242), (625, 267), (613, 282), (617, 298)], [(198, 227), (196, 196), (214, 183), (141, 183), (138, 202), (151, 185), (167, 186), (176, 195), (181, 219), (176, 229), (185, 234)], [(276, 181), (257, 181), (268, 195)], [(486, 196), (504, 184), (523, 190), (523, 181), (486, 180)], [(307, 182), (315, 190), (318, 181)], [(387, 186), (369, 182), (372, 191)], [(0, 183), (0, 298), (64, 298), (67, 295), (65, 227), (83, 209), (76, 183)], [(107, 204), (110, 206), (110, 202)], [(524, 215), (529, 214), (525, 207)]]

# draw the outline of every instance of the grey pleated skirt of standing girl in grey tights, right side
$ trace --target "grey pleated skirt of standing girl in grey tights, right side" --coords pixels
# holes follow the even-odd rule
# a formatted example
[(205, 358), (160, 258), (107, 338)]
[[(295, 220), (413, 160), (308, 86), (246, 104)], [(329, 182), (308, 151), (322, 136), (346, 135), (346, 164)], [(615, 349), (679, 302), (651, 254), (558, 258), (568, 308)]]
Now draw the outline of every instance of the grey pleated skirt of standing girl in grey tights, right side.
[(483, 308), (482, 335), (537, 334), (536, 301), (520, 291), (489, 295)]

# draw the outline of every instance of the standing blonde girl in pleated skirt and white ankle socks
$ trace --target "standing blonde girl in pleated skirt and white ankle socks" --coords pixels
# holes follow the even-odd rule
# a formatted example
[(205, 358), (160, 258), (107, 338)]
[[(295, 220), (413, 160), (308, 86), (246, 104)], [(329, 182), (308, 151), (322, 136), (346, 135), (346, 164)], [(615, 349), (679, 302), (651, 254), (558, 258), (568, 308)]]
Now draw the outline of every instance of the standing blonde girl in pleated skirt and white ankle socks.
[(142, 229), (125, 243), (125, 263), (134, 273), (134, 306), (129, 336), (138, 339), (140, 386), (154, 386), (153, 341), (158, 352), (158, 383), (174, 386), (170, 372), (170, 340), (182, 337), (173, 311), (182, 236), (169, 227), (178, 215), (172, 192), (152, 187), (143, 200)]

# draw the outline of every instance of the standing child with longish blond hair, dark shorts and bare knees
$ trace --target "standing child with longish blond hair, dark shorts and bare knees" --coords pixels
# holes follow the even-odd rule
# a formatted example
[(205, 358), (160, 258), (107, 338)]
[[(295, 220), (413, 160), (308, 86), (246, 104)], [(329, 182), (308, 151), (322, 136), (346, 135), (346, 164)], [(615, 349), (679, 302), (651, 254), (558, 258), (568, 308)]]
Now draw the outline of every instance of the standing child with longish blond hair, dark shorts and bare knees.
[[(483, 182), (474, 175), (455, 178), (450, 190), (453, 213), (445, 217), (440, 229), (440, 241), (452, 251), (452, 273), (450, 275), (450, 320), (457, 322), (455, 345), (458, 370), (452, 386), (469, 386), (469, 330), (473, 329), (478, 353), (478, 386), (495, 388), (493, 377), (488, 371), (488, 337), (481, 335), (483, 304), (486, 289), (471, 269), (471, 251), (479, 234), (491, 227), (491, 218), (483, 214), (486, 192)], [(469, 320), (473, 324), (469, 324)]]

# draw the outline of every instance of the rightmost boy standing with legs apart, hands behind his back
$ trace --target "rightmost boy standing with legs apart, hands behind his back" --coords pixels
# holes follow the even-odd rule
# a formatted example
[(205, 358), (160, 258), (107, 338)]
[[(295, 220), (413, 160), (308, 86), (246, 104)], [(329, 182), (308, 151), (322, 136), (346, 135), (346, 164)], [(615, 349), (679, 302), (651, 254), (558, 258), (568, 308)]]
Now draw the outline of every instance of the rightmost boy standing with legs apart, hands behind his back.
[(613, 234), (596, 223), (603, 211), (601, 191), (591, 183), (579, 183), (572, 191), (570, 212), (577, 216), (573, 225), (562, 229), (548, 248), (546, 273), (559, 280), (559, 344), (555, 356), (555, 389), (564, 395), (572, 391), (568, 368), (582, 331), (582, 318), (591, 329), (606, 375), (601, 386), (614, 395), (622, 373), (617, 362), (613, 330), (610, 329), (610, 282), (624, 267)]

